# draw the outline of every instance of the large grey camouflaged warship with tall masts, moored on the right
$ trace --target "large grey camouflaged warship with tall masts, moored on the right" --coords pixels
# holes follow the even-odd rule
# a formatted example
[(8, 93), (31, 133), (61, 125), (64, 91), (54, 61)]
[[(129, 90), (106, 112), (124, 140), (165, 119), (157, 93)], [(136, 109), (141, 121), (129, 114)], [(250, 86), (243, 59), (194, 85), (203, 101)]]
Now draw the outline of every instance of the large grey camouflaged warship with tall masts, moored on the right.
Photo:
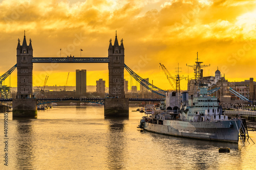
[(152, 111), (143, 116), (138, 128), (166, 135), (236, 143), (239, 134), (243, 141), (246, 136), (249, 138), (246, 120), (228, 119), (218, 98), (209, 95), (212, 89), (208, 91), (208, 84), (203, 83), (201, 63), (197, 56), (196, 65), (191, 66), (195, 70), (194, 95), (189, 98), (188, 92), (181, 93), (178, 67), (176, 91), (166, 93), (165, 111)]

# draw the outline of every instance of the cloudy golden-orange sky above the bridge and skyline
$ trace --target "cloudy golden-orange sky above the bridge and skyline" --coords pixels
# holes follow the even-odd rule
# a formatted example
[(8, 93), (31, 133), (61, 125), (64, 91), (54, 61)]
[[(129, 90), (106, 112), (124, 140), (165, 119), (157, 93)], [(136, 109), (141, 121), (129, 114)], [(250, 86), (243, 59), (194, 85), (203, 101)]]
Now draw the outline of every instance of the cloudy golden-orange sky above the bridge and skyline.
[[(193, 77), (197, 52), (210, 64), (204, 76), (219, 67), (229, 81), (256, 78), (256, 1), (254, 0), (89, 0), (0, 1), (0, 74), (16, 63), (17, 39), (32, 39), (34, 57), (108, 57), (109, 40), (123, 38), (125, 64), (154, 85), (170, 89), (159, 63), (175, 76)], [(103, 78), (108, 64), (34, 64), (33, 85), (75, 86), (75, 69), (87, 69), (87, 84)], [(125, 79), (130, 76), (125, 70)], [(7, 83), (8, 82), (8, 83)], [(130, 83), (130, 82), (129, 82)], [(9, 79), (5, 81), (9, 85)], [(182, 83), (186, 89), (186, 81)], [(16, 86), (16, 70), (11, 86)], [(136, 85), (133, 80), (133, 85)], [(129, 85), (130, 87), (130, 85)]]

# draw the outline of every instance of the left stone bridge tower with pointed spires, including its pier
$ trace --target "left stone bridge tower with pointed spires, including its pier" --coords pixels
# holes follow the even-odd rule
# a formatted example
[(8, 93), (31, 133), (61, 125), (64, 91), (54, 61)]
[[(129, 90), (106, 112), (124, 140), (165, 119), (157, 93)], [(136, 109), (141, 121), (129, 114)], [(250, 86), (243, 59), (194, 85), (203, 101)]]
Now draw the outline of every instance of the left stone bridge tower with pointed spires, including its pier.
[(13, 116), (37, 116), (36, 99), (33, 96), (33, 48), (31, 39), (27, 45), (24, 32), (22, 45), (17, 45), (17, 96), (13, 100)]

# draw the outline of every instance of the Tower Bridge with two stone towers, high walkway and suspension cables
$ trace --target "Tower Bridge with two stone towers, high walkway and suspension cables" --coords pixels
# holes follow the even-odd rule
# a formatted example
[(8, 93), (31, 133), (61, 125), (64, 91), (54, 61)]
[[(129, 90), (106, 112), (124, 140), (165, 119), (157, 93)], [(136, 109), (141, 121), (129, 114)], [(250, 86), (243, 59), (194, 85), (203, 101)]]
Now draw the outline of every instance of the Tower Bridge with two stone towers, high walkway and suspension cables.
[[(33, 64), (34, 63), (108, 63), (109, 65), (109, 98), (104, 99), (90, 99), (96, 100), (96, 103), (104, 104), (104, 116), (129, 116), (129, 100), (141, 101), (140, 99), (128, 99), (124, 96), (124, 68), (139, 81), (147, 89), (156, 92), (160, 95), (156, 86), (143, 82), (144, 80), (135, 74), (129, 67), (124, 64), (124, 46), (123, 39), (120, 45), (115, 36), (114, 44), (110, 39), (108, 57), (33, 57), (32, 40), (29, 39), (27, 44), (26, 35), (24, 33), (23, 43), (18, 44), (16, 48), (17, 64), (3, 75), (6, 78), (15, 67), (17, 67), (17, 95), (13, 102), (13, 116), (37, 116), (37, 104), (53, 102), (52, 99), (35, 99), (33, 96), (32, 80), (33, 80)], [(54, 99), (58, 101), (59, 99)], [(62, 100), (75, 100), (75, 99), (62, 99)], [(89, 99), (84, 99), (89, 100)], [(1, 100), (0, 100), (1, 101)], [(145, 101), (145, 100), (144, 100)], [(155, 101), (148, 99), (146, 101)]]

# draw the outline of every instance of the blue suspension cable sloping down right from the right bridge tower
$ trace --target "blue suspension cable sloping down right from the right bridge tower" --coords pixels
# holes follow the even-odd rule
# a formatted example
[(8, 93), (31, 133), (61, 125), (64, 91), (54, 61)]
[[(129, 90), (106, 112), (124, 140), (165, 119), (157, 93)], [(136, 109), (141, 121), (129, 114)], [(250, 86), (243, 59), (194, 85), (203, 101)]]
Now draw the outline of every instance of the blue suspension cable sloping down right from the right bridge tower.
[[(167, 91), (162, 90), (156, 86), (154, 86), (151, 83), (148, 83), (146, 80), (142, 79), (139, 75), (137, 75), (131, 68), (129, 68), (127, 65), (124, 64), (124, 68), (130, 73), (130, 75), (137, 81), (139, 82), (142, 86), (144, 86), (146, 89), (157, 93), (159, 95), (165, 96), (165, 94), (162, 93), (166, 93)], [(160, 93), (162, 92), (162, 93)]]

